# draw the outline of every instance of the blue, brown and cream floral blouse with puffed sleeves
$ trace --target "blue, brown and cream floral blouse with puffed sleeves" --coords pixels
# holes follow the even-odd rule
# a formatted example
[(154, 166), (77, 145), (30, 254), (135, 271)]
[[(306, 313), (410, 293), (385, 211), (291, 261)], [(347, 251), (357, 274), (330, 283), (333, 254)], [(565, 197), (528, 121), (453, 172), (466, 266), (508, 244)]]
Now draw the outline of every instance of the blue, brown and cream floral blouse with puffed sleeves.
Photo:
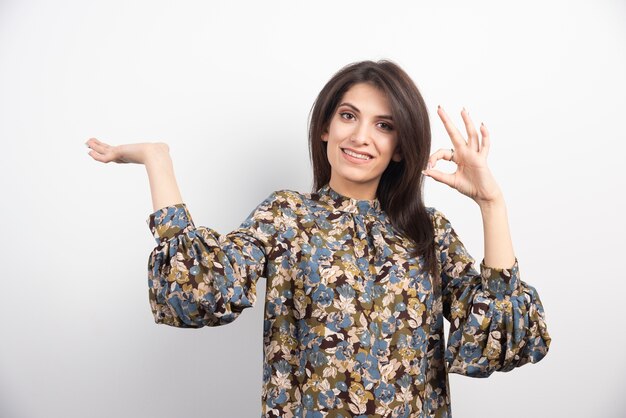
[(262, 417), (450, 417), (447, 372), (536, 363), (551, 338), (517, 259), (510, 269), (483, 259), (477, 272), (450, 222), (427, 210), (440, 280), (409, 256), (378, 199), (328, 184), (273, 192), (224, 235), (196, 227), (184, 203), (159, 209), (147, 220), (155, 322), (228, 324), (264, 277)]

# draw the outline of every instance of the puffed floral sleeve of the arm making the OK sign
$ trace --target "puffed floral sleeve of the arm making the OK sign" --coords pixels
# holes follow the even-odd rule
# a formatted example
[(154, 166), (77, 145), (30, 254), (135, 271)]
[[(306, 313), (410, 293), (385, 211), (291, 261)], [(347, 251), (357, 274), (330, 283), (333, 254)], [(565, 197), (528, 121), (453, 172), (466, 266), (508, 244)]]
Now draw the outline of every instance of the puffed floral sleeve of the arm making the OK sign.
[(510, 268), (474, 259), (438, 210), (433, 212), (439, 245), (443, 314), (450, 322), (445, 361), (448, 372), (488, 377), (548, 352), (550, 335), (539, 295), (520, 279), (517, 258)]

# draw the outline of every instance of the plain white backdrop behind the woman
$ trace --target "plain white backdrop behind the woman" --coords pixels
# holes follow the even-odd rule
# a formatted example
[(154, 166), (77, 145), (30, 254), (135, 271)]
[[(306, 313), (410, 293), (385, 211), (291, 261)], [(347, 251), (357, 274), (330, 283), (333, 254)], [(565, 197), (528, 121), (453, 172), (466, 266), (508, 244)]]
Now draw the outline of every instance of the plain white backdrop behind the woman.
[[(167, 142), (196, 224), (225, 233), (274, 190), (310, 191), (314, 98), (381, 58), (424, 95), (433, 151), (438, 104), (489, 128), (553, 338), (537, 364), (450, 375), (453, 415), (625, 416), (625, 23), (618, 0), (0, 0), (0, 416), (258, 416), (265, 282), (228, 326), (154, 324), (145, 168), (84, 142)], [(475, 203), (425, 193), (480, 260)]]

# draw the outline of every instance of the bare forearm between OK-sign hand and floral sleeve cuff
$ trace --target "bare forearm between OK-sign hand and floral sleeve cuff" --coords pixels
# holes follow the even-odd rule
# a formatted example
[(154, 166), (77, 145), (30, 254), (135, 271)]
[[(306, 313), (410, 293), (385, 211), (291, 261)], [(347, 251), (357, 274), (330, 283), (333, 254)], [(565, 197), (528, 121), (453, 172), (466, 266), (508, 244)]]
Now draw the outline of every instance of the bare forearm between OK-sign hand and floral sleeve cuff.
[(479, 206), (483, 218), (485, 264), (495, 268), (511, 268), (515, 254), (504, 198), (499, 197)]

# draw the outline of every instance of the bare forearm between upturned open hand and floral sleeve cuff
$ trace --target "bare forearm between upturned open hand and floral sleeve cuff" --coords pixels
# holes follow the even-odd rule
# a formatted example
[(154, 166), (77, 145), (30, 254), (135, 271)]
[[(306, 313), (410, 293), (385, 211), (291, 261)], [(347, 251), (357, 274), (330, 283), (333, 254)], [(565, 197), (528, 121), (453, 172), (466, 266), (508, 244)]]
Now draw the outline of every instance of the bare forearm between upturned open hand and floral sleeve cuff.
[(183, 202), (174, 176), (174, 165), (167, 147), (150, 152), (146, 158), (145, 166), (150, 181), (154, 211)]

